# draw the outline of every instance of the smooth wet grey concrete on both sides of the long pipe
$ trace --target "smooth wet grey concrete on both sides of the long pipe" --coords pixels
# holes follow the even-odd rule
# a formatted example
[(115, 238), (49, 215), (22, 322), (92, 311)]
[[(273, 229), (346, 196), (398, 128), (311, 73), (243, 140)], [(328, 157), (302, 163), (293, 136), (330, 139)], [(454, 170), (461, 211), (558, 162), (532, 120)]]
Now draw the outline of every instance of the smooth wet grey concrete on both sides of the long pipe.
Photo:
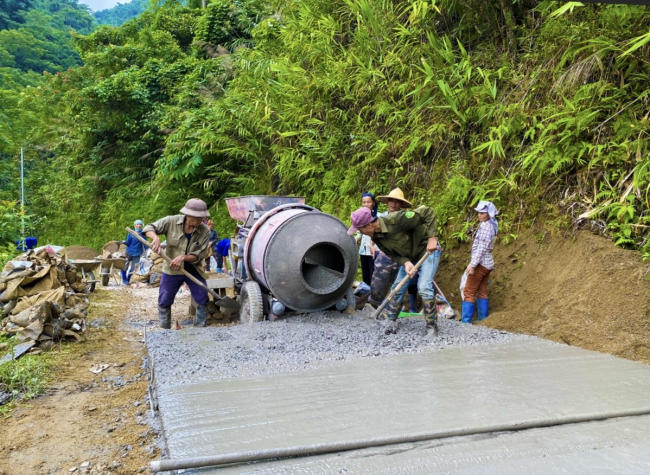
[[(302, 372), (158, 385), (171, 459), (640, 409), (650, 407), (648, 394), (646, 365), (534, 339), (363, 358)], [(227, 473), (262, 467), (269, 467), (265, 473), (337, 473), (331, 460), (349, 463), (345, 468), (350, 473), (477, 473), (485, 471), (483, 462), (477, 463), (483, 459), (498, 461), (495, 467), (500, 468), (493, 473), (524, 473), (539, 468), (533, 461), (542, 454), (553, 455), (552, 463), (559, 464), (555, 467), (563, 461), (576, 464), (569, 470), (575, 472), (595, 453), (603, 469), (610, 470), (607, 460), (618, 459), (616, 473), (636, 473), (638, 464), (646, 467), (650, 457), (648, 420), (625, 418), (496, 438), (438, 440), (410, 444), (407, 452), (399, 446), (369, 449), (384, 456), (349, 452), (343, 458), (283, 460), (228, 468)], [(622, 430), (633, 444), (615, 434)], [(594, 450), (574, 441), (574, 433)], [(506, 436), (519, 445), (504, 445)], [(620, 443), (612, 445), (610, 439)], [(462, 447), (443, 449), (453, 444)], [(395, 461), (393, 469), (385, 465), (388, 454)], [(413, 463), (409, 454), (415, 457)], [(504, 469), (509, 459), (516, 459), (523, 472)], [(286, 470), (281, 472), (281, 467)]]

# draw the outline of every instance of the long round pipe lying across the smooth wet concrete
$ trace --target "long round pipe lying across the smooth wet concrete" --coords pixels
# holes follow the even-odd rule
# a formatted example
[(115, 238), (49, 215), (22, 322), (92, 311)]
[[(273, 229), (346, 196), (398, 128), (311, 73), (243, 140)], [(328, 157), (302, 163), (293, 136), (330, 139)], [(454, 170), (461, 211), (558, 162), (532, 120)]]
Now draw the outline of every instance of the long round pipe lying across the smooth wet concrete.
[(351, 440), (346, 442), (330, 442), (324, 444), (302, 445), (279, 449), (265, 449), (249, 452), (233, 452), (229, 454), (213, 455), (205, 457), (193, 457), (179, 460), (156, 460), (150, 463), (152, 473), (163, 471), (181, 470), (189, 468), (212, 467), (218, 465), (238, 464), (245, 462), (260, 462), (263, 460), (300, 457), (306, 455), (322, 455), (349, 450), (360, 450), (385, 445), (396, 445), (409, 442), (422, 442), (434, 439), (446, 439), (468, 435), (479, 435), (491, 432), (507, 432), (542, 427), (551, 427), (566, 424), (577, 424), (583, 422), (602, 421), (618, 417), (634, 417), (650, 415), (650, 408), (630, 409), (623, 411), (611, 411), (603, 413), (583, 414), (577, 416), (561, 416), (549, 419), (538, 419), (526, 422), (515, 422), (506, 424), (495, 424), (483, 427), (466, 427), (461, 429), (424, 432), (412, 435), (398, 435), (389, 437), (377, 437), (371, 439)]

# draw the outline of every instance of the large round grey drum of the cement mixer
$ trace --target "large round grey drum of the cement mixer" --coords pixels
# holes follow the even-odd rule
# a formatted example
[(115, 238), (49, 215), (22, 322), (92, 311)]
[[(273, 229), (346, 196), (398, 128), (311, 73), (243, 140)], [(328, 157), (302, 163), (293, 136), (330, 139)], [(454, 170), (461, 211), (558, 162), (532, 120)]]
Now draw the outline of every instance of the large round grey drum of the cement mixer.
[(244, 259), (249, 278), (286, 307), (315, 312), (345, 297), (356, 276), (358, 251), (339, 219), (289, 204), (255, 223)]

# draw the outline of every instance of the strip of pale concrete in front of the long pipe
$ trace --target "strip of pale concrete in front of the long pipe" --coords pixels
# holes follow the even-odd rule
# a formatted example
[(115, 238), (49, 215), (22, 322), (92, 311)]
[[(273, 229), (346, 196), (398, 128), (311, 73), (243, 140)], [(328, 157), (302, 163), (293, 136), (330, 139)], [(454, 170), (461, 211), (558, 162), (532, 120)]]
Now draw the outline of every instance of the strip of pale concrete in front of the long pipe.
[(454, 437), (185, 473), (522, 475), (650, 473), (650, 416)]

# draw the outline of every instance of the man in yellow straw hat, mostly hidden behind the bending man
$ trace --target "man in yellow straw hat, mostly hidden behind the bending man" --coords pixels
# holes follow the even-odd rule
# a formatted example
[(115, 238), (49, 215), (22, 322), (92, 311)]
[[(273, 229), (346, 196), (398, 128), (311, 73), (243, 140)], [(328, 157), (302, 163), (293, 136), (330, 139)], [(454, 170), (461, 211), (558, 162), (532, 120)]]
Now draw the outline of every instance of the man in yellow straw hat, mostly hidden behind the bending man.
[[(399, 188), (395, 188), (387, 195), (377, 198), (377, 201), (386, 203), (388, 205), (388, 212), (384, 211), (377, 216), (380, 218), (386, 216), (388, 213), (394, 213), (402, 208), (412, 208), (411, 203), (404, 198), (404, 193)], [(375, 270), (372, 273), (372, 282), (370, 284), (370, 295), (368, 302), (370, 305), (377, 308), (388, 295), (388, 290), (391, 284), (395, 281), (397, 272), (400, 265), (393, 261), (390, 257), (384, 254), (381, 250), (377, 252), (375, 257)]]

